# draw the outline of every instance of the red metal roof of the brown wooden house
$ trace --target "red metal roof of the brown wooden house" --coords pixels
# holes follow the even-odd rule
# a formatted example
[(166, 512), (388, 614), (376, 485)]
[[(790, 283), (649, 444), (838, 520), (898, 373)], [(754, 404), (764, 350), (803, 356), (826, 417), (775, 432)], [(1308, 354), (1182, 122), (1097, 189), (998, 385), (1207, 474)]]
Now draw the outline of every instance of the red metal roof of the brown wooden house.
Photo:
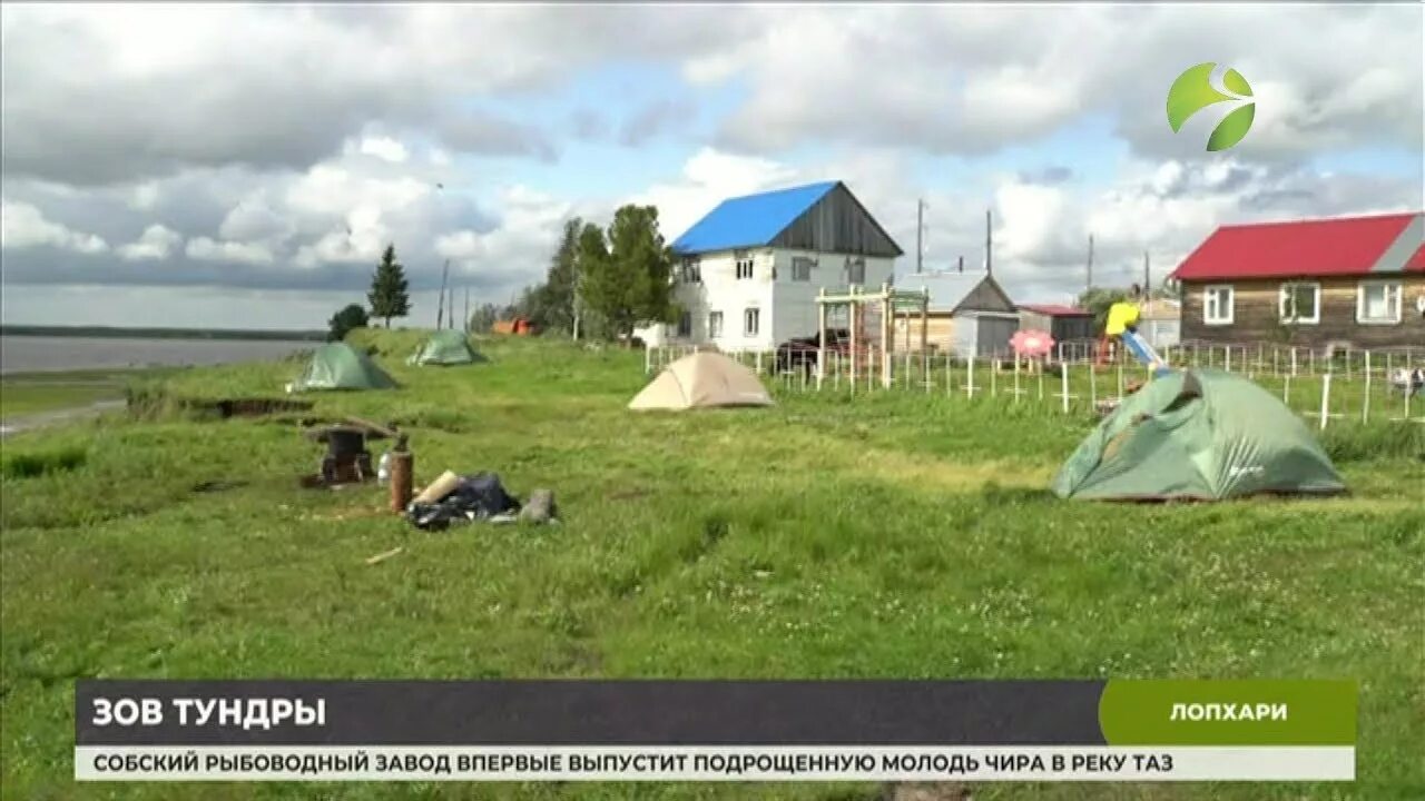
[[(1173, 271), (1178, 281), (1425, 271), (1425, 214), (1223, 225)], [(1395, 247), (1392, 247), (1395, 245)], [(1395, 255), (1399, 254), (1399, 255)], [(1414, 255), (1411, 255), (1414, 254)]]

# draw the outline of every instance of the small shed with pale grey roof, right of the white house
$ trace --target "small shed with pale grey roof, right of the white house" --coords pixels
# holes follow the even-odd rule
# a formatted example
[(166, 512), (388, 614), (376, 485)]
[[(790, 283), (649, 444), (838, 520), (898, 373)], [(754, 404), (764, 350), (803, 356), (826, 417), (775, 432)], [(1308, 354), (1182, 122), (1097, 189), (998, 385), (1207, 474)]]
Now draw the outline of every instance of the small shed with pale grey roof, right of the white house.
[[(918, 272), (896, 279), (896, 289), (931, 295), (926, 342), (960, 358), (1007, 355), (1019, 331), (1019, 312), (1005, 289), (985, 272)], [(921, 348), (919, 314), (898, 314), (895, 335), (901, 351)]]

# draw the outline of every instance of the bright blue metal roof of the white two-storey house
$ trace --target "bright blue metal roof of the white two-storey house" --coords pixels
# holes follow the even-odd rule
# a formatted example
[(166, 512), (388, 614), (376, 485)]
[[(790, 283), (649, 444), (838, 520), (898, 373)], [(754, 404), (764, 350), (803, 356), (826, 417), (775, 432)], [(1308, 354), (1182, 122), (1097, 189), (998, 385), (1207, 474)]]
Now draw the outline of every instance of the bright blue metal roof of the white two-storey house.
[(728, 198), (678, 237), (673, 249), (680, 254), (705, 254), (770, 245), (838, 182), (822, 181)]

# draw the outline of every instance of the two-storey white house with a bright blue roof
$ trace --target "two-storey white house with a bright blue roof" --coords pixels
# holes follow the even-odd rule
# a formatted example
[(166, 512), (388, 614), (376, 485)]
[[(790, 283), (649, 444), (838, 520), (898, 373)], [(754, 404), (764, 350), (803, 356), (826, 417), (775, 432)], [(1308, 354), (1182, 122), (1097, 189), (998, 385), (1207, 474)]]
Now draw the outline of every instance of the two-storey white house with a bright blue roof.
[(768, 351), (817, 335), (819, 289), (891, 282), (903, 251), (845, 184), (828, 181), (725, 200), (673, 252), (683, 319), (636, 336), (648, 346)]

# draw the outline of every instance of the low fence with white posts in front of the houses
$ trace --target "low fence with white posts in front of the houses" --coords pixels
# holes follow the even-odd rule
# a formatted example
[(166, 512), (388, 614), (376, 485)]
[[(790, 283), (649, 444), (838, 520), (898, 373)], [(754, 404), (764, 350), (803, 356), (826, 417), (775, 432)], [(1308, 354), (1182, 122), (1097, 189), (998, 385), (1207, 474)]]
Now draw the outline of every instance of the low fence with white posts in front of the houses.
[[(654, 373), (700, 349), (664, 345), (644, 353)], [(1149, 381), (1150, 372), (1121, 348), (1097, 352), (1097, 342), (1063, 342), (1045, 358), (948, 351), (882, 353), (875, 348), (737, 351), (727, 356), (784, 392), (919, 392), (1030, 405), (1063, 415), (1104, 413)], [(1318, 428), (1394, 420), (1425, 423), (1425, 346), (1322, 352), (1273, 343), (1178, 343), (1160, 353), (1174, 368), (1213, 368), (1243, 375), (1281, 398)]]

